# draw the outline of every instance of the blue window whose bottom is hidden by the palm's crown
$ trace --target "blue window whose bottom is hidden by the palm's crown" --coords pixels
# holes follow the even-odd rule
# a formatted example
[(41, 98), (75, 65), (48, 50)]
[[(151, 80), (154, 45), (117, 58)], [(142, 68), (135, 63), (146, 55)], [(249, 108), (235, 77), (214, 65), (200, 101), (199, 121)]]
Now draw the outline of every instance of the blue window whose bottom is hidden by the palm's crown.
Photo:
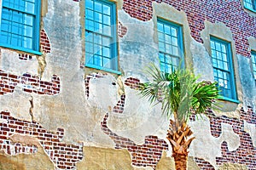
[(183, 56), (181, 26), (166, 20), (157, 21), (160, 70), (172, 72)]

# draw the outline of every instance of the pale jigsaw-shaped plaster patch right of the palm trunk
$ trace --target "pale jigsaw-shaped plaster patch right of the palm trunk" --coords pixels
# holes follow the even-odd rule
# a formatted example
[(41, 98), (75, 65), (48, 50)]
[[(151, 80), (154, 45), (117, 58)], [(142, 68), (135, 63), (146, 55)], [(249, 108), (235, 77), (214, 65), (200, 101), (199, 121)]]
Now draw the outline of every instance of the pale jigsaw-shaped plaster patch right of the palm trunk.
[(221, 157), (221, 144), (226, 141), (229, 150), (236, 150), (240, 145), (239, 135), (234, 133), (232, 126), (222, 123), (222, 133), (215, 138), (211, 134), (210, 121), (207, 116), (196, 122), (189, 122), (195, 140), (190, 145), (189, 156), (203, 158), (217, 168), (216, 157)]

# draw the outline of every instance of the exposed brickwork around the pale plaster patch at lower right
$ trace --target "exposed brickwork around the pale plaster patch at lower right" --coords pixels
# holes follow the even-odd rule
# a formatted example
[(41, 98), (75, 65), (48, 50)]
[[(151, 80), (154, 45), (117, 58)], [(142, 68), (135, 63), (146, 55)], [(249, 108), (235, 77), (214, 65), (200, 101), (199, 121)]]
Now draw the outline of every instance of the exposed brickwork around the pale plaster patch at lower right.
[[(234, 133), (239, 135), (240, 146), (237, 150), (229, 151), (228, 144), (224, 141), (221, 144), (221, 157), (216, 157), (216, 163), (218, 166), (225, 162), (244, 164), (249, 170), (253, 170), (256, 167), (256, 147), (253, 146), (253, 140), (249, 133), (244, 131), (244, 121), (256, 125), (256, 114), (251, 107), (248, 107), (248, 111), (244, 111), (241, 108), (240, 119), (227, 117), (227, 116), (214, 116), (212, 111), (208, 111), (207, 116), (210, 118), (210, 127), (213, 137), (218, 138), (222, 133), (221, 124), (226, 123), (232, 126)], [(195, 120), (195, 116), (190, 119)], [(197, 164), (202, 169), (207, 169), (208, 163), (205, 161), (198, 161)]]

